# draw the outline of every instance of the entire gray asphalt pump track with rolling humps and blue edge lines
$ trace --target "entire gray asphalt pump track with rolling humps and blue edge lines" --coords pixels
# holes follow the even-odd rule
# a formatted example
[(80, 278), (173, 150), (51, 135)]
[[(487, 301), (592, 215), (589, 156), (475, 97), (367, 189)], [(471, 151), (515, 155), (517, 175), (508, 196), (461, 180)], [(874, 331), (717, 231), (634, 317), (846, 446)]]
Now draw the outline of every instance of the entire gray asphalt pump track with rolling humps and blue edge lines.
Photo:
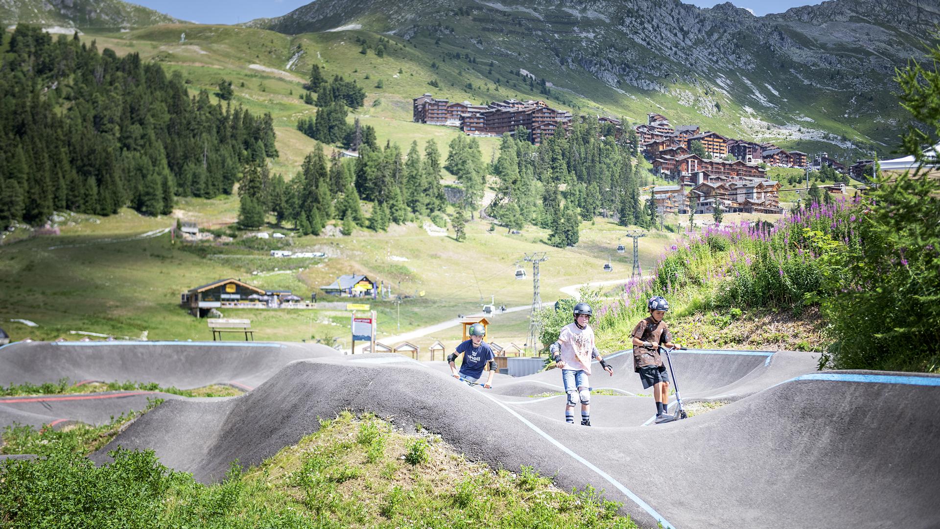
[[(595, 364), (590, 383), (619, 394), (591, 397), (587, 427), (564, 422), (556, 370), (497, 375), (483, 390), (449, 377), (444, 362), (340, 356), (320, 345), (108, 344), (0, 347), (0, 383), (237, 382), (250, 391), (170, 398), (92, 455), (99, 462), (118, 445), (152, 448), (165, 465), (210, 483), (230, 461), (258, 464), (349, 409), (420, 423), (494, 468), (529, 465), (563, 489), (603, 489), (643, 527), (940, 526), (937, 376), (818, 372), (799, 352), (677, 351), (683, 400), (730, 404), (655, 425), (630, 353), (615, 353), (607, 357), (615, 375)], [(541, 393), (549, 395), (529, 396)], [(55, 401), (54, 413), (0, 402), (0, 426), (26, 413), (75, 420), (99, 401), (119, 408), (134, 397)]]

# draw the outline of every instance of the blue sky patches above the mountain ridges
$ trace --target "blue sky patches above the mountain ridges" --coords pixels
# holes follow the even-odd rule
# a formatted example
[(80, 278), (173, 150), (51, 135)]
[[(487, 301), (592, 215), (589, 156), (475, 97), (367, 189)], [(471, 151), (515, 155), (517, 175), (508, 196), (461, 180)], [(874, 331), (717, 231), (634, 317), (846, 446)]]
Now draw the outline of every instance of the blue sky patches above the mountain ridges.
[[(305, 6), (310, 0), (129, 0), (151, 9), (156, 9), (172, 17), (199, 24), (238, 24), (257, 18), (270, 18), (287, 14), (290, 11)], [(723, 2), (708, 0), (682, 0), (686, 4), (694, 4), (699, 8), (711, 8)], [(524, 0), (520, 1), (525, 4)], [(739, 8), (750, 9), (754, 14), (761, 16), (767, 13), (782, 13), (796, 6), (818, 4), (812, 0), (735, 0), (732, 2)]]

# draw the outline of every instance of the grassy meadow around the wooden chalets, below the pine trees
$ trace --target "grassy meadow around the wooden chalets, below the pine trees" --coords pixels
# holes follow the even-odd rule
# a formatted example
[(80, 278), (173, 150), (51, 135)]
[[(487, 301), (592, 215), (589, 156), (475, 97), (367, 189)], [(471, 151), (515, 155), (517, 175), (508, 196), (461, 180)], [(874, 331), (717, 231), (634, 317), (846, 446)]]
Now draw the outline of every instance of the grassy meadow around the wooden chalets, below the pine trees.
[[(200, 223), (224, 223), (237, 200), (184, 199), (179, 212)], [(546, 251), (550, 260), (541, 266), (541, 293), (551, 301), (558, 288), (585, 281), (627, 277), (630, 254), (618, 254), (622, 228), (598, 218), (585, 225), (581, 243), (575, 248), (546, 247), (547, 232), (530, 228), (522, 235), (505, 230), (489, 232), (489, 223), (467, 226), (466, 242), (452, 237), (431, 237), (414, 225), (394, 226), (387, 233), (357, 231), (351, 237), (290, 237), (289, 248), (323, 251), (323, 260), (277, 259), (267, 249), (234, 243), (217, 247), (171, 244), (169, 234), (159, 237), (100, 244), (102, 240), (126, 238), (169, 226), (174, 219), (140, 216), (125, 209), (118, 216), (75, 215), (63, 219), (59, 236), (38, 236), (11, 242), (0, 251), (0, 274), (10, 278), (0, 285), (6, 303), (0, 321), (14, 339), (55, 339), (70, 330), (85, 330), (165, 340), (205, 340), (211, 334), (205, 320), (180, 309), (180, 293), (217, 279), (241, 278), (262, 288), (290, 289), (309, 298), (317, 287), (329, 284), (340, 274), (364, 273), (375, 280), (391, 282), (394, 293), (424, 297), (405, 299), (400, 306), (400, 329), (431, 325), (458, 313), (480, 309), (481, 298), (497, 304), (525, 305), (531, 301), (531, 281), (516, 281), (514, 263), (524, 252)], [(287, 231), (283, 231), (287, 232)], [(451, 232), (452, 233), (452, 232)], [(641, 260), (650, 266), (671, 240), (642, 239)], [(50, 247), (76, 245), (71, 248)], [(81, 246), (87, 245), (87, 246)], [(391, 257), (396, 259), (393, 260)], [(608, 256), (614, 273), (603, 272)], [(401, 261), (399, 259), (407, 259)], [(303, 269), (300, 269), (303, 268)], [(290, 271), (286, 271), (286, 269)], [(253, 272), (258, 274), (253, 274)], [(531, 269), (529, 268), (529, 271)], [(323, 297), (321, 297), (323, 299)], [(373, 305), (380, 316), (380, 339), (399, 329), (399, 307), (392, 302)], [(328, 311), (224, 311), (229, 317), (245, 317), (258, 329), (258, 340), (331, 339), (348, 340), (349, 314)], [(525, 337), (527, 320), (520, 314), (506, 318), (504, 328), (492, 328), (493, 340), (504, 342)], [(32, 320), (38, 328), (9, 322)], [(502, 319), (498, 319), (502, 321)], [(145, 334), (146, 331), (146, 334)], [(452, 331), (435, 336), (454, 340)], [(331, 341), (332, 343), (332, 341)], [(424, 345), (424, 344), (419, 344)]]

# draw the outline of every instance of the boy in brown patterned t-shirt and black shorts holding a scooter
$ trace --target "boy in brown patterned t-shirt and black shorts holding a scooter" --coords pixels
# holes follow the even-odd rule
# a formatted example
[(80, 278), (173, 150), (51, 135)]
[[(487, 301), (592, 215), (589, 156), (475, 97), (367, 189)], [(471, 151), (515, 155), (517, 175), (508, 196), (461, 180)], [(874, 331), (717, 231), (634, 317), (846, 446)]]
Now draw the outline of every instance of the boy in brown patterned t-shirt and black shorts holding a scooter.
[(656, 420), (666, 419), (669, 407), (669, 375), (659, 355), (659, 346), (675, 347), (672, 334), (663, 317), (669, 304), (662, 297), (653, 297), (647, 304), (650, 316), (636, 324), (631, 333), (634, 344), (634, 370), (643, 382), (643, 389), (652, 386), (652, 398), (656, 402)]

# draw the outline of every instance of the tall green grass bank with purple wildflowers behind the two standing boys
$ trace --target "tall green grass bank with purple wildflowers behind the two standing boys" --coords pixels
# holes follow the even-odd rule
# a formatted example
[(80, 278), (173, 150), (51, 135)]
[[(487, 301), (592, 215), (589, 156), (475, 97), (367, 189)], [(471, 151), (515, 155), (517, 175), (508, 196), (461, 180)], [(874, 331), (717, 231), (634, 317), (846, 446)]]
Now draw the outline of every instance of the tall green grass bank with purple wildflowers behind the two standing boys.
[[(619, 285), (613, 292), (584, 289), (580, 299), (595, 310), (592, 325), (599, 344), (622, 348), (635, 324), (648, 315), (647, 301), (662, 296), (672, 312), (771, 308), (799, 314), (833, 287), (826, 266), (834, 253), (863, 244), (861, 199), (813, 203), (774, 224), (742, 222), (686, 232), (684, 242), (666, 248), (649, 274)], [(540, 314), (541, 341), (551, 344), (570, 323), (575, 300)]]

